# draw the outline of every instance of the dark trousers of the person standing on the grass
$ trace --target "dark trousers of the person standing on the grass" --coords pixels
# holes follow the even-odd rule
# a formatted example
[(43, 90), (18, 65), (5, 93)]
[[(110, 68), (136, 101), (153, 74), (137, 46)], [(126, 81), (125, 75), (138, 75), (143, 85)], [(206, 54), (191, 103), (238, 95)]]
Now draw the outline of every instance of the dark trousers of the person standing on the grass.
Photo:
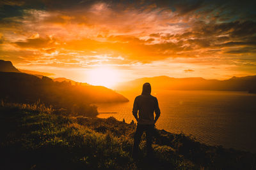
[(155, 131), (155, 125), (137, 125), (136, 132), (134, 134), (134, 144), (132, 148), (132, 157), (137, 158), (139, 152), (140, 139), (143, 132), (146, 132), (147, 138), (147, 156), (152, 157), (152, 136)]

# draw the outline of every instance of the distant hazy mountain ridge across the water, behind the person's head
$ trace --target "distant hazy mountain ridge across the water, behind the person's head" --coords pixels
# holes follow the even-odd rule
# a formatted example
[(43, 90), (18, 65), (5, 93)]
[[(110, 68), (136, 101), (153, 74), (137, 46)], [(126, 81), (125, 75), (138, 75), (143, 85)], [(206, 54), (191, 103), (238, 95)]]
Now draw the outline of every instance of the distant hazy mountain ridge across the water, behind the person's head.
[(256, 76), (232, 77), (228, 80), (206, 80), (204, 78), (172, 78), (156, 76), (139, 78), (120, 83), (115, 87), (119, 92), (141, 90), (143, 83), (149, 82), (156, 90), (225, 90), (225, 91), (256, 91)]

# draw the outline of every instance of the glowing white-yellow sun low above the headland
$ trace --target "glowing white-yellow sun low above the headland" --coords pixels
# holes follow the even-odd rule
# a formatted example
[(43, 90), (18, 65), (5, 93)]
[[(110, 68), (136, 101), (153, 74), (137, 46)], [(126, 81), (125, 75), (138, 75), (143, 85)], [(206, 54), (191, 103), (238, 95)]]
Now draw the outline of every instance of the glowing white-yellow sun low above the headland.
[(102, 85), (111, 88), (119, 80), (119, 73), (111, 67), (98, 67), (88, 73), (88, 83), (91, 85)]

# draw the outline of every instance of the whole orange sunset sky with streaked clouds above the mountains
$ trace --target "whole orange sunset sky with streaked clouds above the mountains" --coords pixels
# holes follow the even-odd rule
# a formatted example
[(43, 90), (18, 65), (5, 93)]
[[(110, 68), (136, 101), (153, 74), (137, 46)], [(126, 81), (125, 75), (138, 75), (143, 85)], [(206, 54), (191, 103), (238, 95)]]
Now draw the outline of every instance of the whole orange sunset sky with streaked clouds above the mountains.
[(253, 75), (255, 2), (1, 1), (0, 59), (83, 82)]

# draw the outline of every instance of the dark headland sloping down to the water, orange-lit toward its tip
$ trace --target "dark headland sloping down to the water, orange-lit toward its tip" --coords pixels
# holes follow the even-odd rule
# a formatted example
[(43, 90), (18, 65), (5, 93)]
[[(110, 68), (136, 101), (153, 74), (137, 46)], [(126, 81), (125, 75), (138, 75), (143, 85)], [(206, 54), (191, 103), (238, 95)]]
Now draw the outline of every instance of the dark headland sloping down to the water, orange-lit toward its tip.
[(97, 115), (92, 103), (124, 102), (124, 96), (106, 87), (72, 85), (70, 82), (52, 81), (51, 78), (25, 73), (0, 72), (0, 99), (14, 103), (35, 103), (40, 100), (47, 106), (63, 108), (61, 113), (80, 114), (88, 117)]

